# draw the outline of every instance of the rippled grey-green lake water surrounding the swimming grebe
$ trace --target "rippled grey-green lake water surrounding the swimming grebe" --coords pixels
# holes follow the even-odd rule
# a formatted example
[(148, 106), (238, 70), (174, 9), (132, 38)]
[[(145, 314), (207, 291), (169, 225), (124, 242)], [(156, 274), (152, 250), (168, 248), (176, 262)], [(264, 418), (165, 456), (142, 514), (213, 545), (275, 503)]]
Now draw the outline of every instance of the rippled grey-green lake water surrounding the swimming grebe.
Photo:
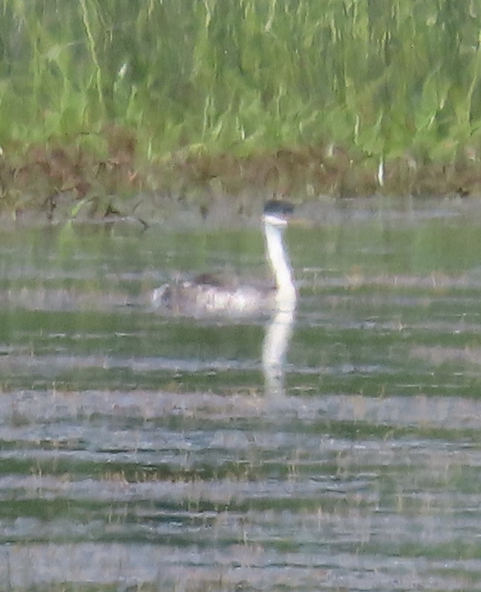
[(481, 205), (297, 213), (287, 321), (149, 304), (254, 217), (0, 231), (0, 590), (480, 589)]

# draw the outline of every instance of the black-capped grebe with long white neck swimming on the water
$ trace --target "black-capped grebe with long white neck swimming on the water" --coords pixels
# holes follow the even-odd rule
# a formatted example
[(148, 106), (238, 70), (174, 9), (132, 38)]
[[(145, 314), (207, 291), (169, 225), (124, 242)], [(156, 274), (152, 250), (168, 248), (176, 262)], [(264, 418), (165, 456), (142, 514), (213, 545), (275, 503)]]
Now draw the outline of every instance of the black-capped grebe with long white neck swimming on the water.
[(252, 285), (225, 285), (203, 274), (192, 281), (164, 284), (152, 293), (152, 304), (182, 316), (248, 316), (250, 314), (294, 310), (296, 287), (283, 242), (283, 231), (293, 213), (285, 201), (268, 201), (264, 206), (265, 249), (275, 278), (275, 288)]

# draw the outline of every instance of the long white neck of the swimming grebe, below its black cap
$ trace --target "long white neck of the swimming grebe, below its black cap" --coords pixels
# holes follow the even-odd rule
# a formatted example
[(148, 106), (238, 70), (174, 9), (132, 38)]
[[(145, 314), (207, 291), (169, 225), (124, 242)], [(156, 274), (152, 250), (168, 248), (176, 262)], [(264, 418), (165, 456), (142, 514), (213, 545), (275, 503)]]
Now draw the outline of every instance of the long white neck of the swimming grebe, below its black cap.
[(278, 303), (294, 303), (296, 287), (294, 286), (290, 262), (284, 250), (282, 240), (283, 229), (264, 223), (265, 244), (271, 269), (275, 276)]

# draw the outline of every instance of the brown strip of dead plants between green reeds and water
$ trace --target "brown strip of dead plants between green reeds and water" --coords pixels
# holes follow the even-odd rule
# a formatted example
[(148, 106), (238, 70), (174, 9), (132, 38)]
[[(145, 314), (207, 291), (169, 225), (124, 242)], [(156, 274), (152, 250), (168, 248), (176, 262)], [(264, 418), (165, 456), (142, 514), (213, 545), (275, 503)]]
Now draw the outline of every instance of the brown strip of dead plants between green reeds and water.
[[(422, 163), (407, 157), (379, 163), (333, 147), (280, 149), (251, 156), (171, 155), (142, 162), (129, 133), (116, 130), (102, 157), (78, 144), (30, 147), (23, 157), (0, 159), (0, 214), (17, 220), (28, 214), (48, 219), (102, 219), (134, 215), (139, 194), (161, 195), (162, 202), (197, 202), (250, 194), (284, 195), (316, 201), (320, 196), (355, 198), (469, 197), (481, 194), (481, 166), (465, 158), (456, 163)], [(382, 182), (382, 185), (380, 184)], [(153, 200), (154, 202), (156, 200)], [(239, 200), (242, 206), (242, 200)], [(152, 204), (154, 205), (154, 204)]]

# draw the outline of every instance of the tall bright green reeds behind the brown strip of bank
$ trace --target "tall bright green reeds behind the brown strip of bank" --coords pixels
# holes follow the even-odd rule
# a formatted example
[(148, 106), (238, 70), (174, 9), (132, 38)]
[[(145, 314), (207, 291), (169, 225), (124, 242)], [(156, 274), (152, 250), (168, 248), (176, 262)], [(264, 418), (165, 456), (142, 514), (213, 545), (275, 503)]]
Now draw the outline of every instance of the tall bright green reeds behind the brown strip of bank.
[(406, 175), (477, 160), (480, 11), (452, 0), (4, 0), (0, 147), (21, 155), (76, 138), (105, 155), (116, 124), (150, 162), (306, 146), (376, 167), (400, 159)]

